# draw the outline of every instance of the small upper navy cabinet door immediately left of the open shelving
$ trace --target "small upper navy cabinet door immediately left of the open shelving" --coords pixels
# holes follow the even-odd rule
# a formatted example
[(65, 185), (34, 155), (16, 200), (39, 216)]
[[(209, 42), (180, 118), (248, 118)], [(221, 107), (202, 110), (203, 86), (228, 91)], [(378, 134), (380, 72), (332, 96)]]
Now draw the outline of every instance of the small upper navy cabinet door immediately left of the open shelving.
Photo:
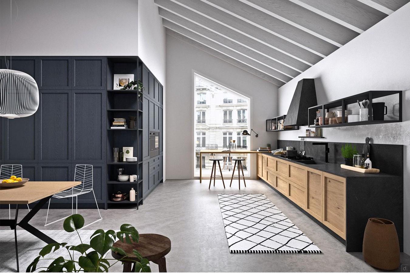
[(73, 89), (105, 89), (105, 57), (73, 57)]

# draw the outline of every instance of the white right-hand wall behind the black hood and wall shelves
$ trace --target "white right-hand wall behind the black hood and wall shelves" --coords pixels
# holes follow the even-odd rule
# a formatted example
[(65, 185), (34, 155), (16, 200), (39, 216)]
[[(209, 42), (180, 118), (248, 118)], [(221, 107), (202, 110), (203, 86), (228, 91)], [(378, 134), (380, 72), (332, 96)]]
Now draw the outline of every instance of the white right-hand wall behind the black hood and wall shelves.
[[(404, 146), (404, 251), (410, 254), (410, 3), (279, 88), (279, 113), (286, 113), (297, 82), (315, 78), (318, 104), (369, 90), (403, 90), (403, 122), (326, 128), (323, 141)], [(297, 140), (307, 127), (282, 132)], [(381, 170), (383, 171), (383, 170)], [(407, 228), (406, 228), (407, 227)]]

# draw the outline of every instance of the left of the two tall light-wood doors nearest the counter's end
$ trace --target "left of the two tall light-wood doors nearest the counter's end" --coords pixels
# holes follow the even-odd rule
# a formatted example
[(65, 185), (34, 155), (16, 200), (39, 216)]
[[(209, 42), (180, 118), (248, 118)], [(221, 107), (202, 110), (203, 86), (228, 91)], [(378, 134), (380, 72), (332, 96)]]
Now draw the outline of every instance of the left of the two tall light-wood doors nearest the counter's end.
[(306, 168), (306, 211), (314, 218), (323, 218), (322, 171)]

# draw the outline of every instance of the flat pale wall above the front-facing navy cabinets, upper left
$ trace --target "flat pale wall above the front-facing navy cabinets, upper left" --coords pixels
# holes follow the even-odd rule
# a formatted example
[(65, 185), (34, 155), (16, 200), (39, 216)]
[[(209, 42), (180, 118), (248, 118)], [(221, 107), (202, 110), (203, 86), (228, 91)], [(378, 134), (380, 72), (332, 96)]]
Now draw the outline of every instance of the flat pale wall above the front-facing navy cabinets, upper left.
[[(137, 56), (137, 0), (16, 0), (12, 55)], [(144, 1), (141, 1), (144, 2)], [(13, 22), (16, 5), (12, 1)], [(10, 1), (0, 0), (0, 54), (10, 55)]]

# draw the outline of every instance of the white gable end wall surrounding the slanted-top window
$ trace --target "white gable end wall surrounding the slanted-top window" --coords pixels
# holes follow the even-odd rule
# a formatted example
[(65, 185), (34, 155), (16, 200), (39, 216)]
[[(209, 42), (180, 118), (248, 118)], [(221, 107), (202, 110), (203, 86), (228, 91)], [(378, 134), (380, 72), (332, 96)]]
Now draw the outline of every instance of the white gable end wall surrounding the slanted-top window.
[[(265, 131), (265, 120), (277, 110), (277, 87), (172, 36), (166, 36), (166, 172), (167, 179), (191, 179), (194, 174), (193, 72), (251, 98), (251, 149), (276, 143)], [(256, 162), (256, 160), (253, 160)], [(251, 166), (256, 177), (256, 163)]]

